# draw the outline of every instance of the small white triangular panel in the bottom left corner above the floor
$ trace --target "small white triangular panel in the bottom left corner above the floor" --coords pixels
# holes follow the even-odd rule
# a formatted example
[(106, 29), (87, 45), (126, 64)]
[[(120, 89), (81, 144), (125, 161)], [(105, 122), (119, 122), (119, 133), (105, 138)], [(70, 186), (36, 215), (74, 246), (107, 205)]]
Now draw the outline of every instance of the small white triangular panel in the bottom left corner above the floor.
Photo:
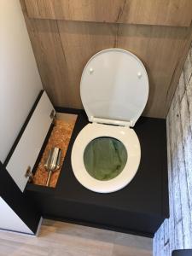
[(33, 235), (32, 230), (30, 230), (17, 216), (17, 214), (9, 207), (9, 205), (3, 201), (2, 197), (0, 197), (0, 212), (0, 229), (13, 230)]

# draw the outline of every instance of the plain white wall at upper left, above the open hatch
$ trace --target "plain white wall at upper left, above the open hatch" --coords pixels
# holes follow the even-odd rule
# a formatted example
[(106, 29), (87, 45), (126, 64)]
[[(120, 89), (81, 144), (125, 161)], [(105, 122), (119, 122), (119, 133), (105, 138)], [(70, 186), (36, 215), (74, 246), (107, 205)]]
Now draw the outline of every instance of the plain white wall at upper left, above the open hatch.
[(42, 89), (19, 0), (0, 0), (0, 160)]

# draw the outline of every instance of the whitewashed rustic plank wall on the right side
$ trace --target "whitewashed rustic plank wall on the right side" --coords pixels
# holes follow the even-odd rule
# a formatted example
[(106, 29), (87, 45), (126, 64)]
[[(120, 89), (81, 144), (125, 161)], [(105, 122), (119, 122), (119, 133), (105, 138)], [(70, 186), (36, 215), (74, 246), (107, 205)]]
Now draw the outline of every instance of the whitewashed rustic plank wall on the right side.
[(154, 256), (192, 248), (192, 45), (167, 116), (170, 218), (154, 236)]

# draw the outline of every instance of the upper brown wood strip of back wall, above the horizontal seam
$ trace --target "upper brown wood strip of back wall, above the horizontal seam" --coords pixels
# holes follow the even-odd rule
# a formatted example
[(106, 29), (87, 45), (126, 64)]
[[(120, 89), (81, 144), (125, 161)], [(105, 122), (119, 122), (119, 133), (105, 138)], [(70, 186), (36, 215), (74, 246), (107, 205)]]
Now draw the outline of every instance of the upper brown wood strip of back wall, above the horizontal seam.
[(192, 18), (191, 0), (25, 1), (28, 15), (40, 19), (189, 26)]

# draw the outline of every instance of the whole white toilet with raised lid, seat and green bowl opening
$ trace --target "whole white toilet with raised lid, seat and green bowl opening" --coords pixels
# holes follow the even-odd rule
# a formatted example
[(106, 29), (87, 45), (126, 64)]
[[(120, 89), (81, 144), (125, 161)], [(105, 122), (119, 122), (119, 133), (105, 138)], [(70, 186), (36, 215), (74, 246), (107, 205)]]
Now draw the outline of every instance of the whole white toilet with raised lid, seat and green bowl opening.
[(74, 176), (97, 193), (123, 189), (136, 175), (141, 147), (133, 127), (148, 101), (143, 62), (125, 49), (104, 49), (82, 73), (80, 96), (90, 121), (73, 143)]

